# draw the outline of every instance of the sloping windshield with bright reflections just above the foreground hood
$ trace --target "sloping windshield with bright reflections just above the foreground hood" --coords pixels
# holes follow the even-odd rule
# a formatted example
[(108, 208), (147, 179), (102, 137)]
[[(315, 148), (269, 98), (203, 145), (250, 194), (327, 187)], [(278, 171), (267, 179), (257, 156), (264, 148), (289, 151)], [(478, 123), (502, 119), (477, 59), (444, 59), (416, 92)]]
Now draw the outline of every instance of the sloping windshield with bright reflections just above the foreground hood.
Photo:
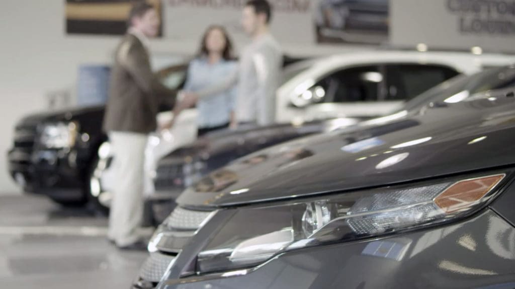
[(479, 92), (510, 86), (515, 86), (515, 66), (489, 69), (471, 76), (460, 75), (411, 99), (403, 110), (416, 110), (440, 101), (458, 103)]

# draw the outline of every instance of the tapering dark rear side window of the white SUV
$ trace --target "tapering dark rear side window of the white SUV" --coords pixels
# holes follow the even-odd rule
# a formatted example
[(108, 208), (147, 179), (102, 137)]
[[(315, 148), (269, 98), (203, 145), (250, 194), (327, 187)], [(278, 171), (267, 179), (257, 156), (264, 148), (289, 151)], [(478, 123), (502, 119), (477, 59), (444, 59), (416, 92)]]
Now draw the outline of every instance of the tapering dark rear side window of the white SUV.
[(409, 100), (459, 73), (447, 66), (387, 64), (388, 100)]

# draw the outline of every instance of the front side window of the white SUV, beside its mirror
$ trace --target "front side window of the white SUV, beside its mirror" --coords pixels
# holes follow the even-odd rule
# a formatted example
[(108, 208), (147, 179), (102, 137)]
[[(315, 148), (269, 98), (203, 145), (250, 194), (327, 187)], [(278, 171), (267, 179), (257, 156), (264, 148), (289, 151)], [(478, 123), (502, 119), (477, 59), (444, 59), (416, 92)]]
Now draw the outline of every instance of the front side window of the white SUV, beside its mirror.
[(314, 103), (350, 103), (381, 99), (384, 80), (379, 66), (352, 67), (336, 71), (313, 87)]

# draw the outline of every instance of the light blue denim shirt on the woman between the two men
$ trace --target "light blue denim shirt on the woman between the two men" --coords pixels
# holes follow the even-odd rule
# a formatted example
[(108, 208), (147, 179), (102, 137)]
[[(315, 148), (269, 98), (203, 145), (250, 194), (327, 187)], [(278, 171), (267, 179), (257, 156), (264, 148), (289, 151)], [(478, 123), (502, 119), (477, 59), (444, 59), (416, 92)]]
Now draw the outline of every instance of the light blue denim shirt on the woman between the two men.
[[(227, 79), (238, 69), (236, 61), (220, 60), (211, 64), (205, 57), (196, 58), (188, 67), (184, 90), (198, 92), (215, 86)], [(199, 99), (197, 103), (199, 128), (210, 128), (230, 122), (230, 113), (234, 111), (236, 87), (221, 93)]]

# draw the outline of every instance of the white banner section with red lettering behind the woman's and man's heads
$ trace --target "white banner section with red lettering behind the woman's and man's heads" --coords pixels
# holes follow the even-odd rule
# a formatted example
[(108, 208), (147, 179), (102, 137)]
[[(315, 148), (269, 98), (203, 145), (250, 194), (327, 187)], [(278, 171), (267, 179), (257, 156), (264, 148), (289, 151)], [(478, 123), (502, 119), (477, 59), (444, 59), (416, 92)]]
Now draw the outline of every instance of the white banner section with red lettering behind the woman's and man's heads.
[[(247, 0), (164, 0), (164, 37), (174, 41), (197, 42), (213, 24), (227, 28), (236, 43), (248, 40), (241, 20)], [(271, 29), (282, 43), (313, 44), (313, 0), (270, 0), (273, 5)]]

